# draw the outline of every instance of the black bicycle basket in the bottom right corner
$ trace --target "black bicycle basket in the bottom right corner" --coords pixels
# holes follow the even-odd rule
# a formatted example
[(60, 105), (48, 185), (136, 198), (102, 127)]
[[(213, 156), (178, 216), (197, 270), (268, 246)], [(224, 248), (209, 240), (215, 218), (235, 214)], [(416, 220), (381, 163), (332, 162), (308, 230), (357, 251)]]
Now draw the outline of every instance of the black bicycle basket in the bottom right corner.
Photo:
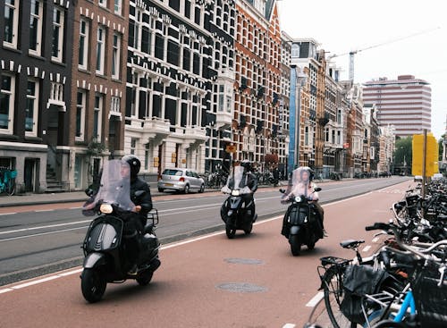
[(447, 280), (438, 286), (440, 273), (433, 263), (421, 265), (411, 282), (421, 328), (442, 328), (447, 323)]

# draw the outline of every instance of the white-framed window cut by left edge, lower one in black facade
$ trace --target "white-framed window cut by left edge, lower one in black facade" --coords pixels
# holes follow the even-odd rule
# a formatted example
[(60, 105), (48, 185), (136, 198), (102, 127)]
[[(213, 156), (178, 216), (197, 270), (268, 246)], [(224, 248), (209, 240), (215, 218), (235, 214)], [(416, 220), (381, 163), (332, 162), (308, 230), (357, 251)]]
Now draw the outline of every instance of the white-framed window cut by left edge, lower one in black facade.
[(2, 74), (0, 90), (0, 131), (13, 133), (15, 80), (11, 75)]

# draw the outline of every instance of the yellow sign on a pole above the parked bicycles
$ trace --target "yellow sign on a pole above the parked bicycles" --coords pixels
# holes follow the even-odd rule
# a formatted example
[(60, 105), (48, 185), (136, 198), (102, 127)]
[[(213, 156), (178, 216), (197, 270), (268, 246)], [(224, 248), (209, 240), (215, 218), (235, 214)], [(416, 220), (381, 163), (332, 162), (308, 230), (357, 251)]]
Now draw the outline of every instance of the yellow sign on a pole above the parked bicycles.
[(413, 135), (413, 160), (411, 173), (413, 175), (433, 176), (438, 172), (438, 143), (432, 133), (426, 135), (426, 172), (422, 172), (424, 160), (424, 135)]

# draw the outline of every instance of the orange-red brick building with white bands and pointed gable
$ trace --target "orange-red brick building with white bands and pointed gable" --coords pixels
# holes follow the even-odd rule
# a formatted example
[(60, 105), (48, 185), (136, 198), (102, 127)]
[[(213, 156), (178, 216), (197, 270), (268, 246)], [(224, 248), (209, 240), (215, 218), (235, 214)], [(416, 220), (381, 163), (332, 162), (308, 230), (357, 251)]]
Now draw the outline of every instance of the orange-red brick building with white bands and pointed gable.
[(274, 154), (285, 166), (288, 144), (279, 134), (283, 41), (276, 3), (241, 0), (236, 9), (234, 159), (249, 159), (262, 171), (265, 156)]

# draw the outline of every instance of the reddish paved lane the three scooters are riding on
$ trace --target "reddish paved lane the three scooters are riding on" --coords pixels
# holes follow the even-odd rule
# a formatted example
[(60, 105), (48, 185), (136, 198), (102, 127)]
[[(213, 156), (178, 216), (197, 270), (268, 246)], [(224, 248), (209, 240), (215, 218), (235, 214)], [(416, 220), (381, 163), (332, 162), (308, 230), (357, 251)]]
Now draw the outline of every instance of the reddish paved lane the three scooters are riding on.
[[(368, 181), (361, 182), (365, 185)], [(98, 304), (90, 305), (82, 298), (80, 267), (0, 287), (0, 327), (302, 327), (311, 307), (321, 298), (316, 274), (319, 258), (353, 257), (352, 251), (339, 246), (346, 239), (366, 240), (360, 249), (362, 255), (377, 248), (374, 232), (364, 227), (389, 219), (389, 207), (402, 198), (408, 186), (401, 183), (328, 203), (327, 198), (340, 196), (350, 189), (349, 185), (345, 181), (325, 186), (322, 198), (326, 199), (325, 227), (329, 237), (318, 241), (314, 250), (304, 248), (299, 257), (291, 256), (287, 240), (279, 233), (282, 215), (277, 215), (257, 222), (250, 235), (240, 233), (234, 240), (216, 231), (164, 244), (160, 251), (162, 265), (147, 287), (136, 282), (108, 284)], [(274, 191), (259, 192), (259, 211), (275, 210), (274, 195)], [(171, 200), (172, 204), (187, 207), (180, 202), (181, 197), (177, 198)], [(217, 199), (208, 195), (202, 202), (190, 200), (188, 207), (209, 204), (214, 210), (183, 213), (179, 215), (181, 223), (211, 216), (214, 204), (219, 203)], [(159, 208), (169, 208), (164, 201), (157, 203), (161, 203)], [(162, 222), (166, 223), (170, 215), (161, 214)], [(173, 221), (170, 226), (175, 225)], [(56, 234), (61, 233), (64, 235)], [(1, 248), (11, 241), (2, 241)], [(38, 237), (22, 243), (35, 248)], [(318, 317), (318, 324), (327, 327), (325, 315)]]

